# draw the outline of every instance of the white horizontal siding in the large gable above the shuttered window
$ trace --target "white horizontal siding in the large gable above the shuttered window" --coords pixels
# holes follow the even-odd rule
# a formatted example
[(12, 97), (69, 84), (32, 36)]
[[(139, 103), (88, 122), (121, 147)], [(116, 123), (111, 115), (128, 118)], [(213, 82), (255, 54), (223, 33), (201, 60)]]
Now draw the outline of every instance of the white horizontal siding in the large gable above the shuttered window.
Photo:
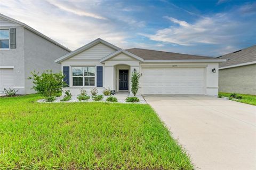
[(97, 44), (91, 48), (71, 57), (66, 61), (83, 61), (83, 60), (100, 60), (103, 57), (115, 52), (113, 48), (110, 48), (104, 44)]

